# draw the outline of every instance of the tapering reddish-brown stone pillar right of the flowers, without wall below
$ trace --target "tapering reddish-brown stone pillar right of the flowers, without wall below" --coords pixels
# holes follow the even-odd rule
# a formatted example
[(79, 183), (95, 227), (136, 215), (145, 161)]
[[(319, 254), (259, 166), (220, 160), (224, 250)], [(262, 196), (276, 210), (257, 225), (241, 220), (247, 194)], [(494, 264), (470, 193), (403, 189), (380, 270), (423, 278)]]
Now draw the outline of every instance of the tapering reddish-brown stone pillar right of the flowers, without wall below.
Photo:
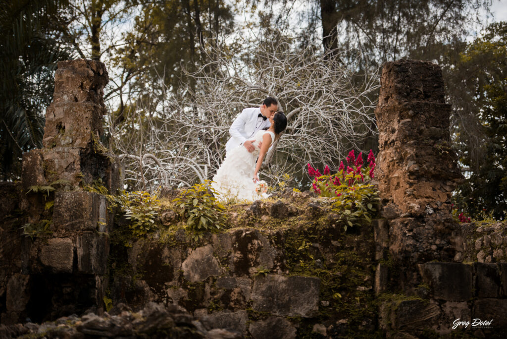
[(375, 111), (377, 177), (389, 253), (408, 267), (460, 259), (451, 192), (462, 175), (450, 148), (450, 112), (440, 66), (418, 60), (384, 64)]

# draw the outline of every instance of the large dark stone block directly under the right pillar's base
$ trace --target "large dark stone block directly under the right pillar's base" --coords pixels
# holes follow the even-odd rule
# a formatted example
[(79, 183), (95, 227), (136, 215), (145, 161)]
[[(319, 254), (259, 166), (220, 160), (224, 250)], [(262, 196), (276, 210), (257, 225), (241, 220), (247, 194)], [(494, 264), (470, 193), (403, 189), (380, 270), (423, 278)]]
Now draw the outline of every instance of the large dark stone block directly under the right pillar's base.
[(434, 298), (446, 301), (465, 301), (472, 298), (472, 266), (455, 262), (427, 262), (422, 264), (423, 282)]

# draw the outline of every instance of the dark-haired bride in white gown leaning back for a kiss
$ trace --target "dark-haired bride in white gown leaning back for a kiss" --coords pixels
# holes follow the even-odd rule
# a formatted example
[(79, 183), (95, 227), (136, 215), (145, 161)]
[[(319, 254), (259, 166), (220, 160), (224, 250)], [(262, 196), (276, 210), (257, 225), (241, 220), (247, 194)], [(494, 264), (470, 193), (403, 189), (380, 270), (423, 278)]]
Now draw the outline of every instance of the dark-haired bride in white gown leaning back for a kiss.
[(218, 193), (218, 199), (254, 201), (263, 196), (257, 189), (260, 182), (259, 169), (269, 147), (287, 127), (287, 118), (283, 112), (276, 112), (269, 121), (271, 126), (268, 130), (260, 130), (254, 135), (253, 152), (249, 153), (243, 145), (238, 145), (226, 154), (211, 184)]

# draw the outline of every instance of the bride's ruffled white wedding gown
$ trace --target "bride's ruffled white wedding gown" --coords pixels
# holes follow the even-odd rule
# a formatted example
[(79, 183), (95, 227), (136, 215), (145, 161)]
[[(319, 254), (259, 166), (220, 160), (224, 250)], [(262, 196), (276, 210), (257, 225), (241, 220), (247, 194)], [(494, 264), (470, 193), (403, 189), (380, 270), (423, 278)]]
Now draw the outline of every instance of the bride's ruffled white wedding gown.
[(259, 156), (259, 143), (262, 142), (264, 133), (271, 134), (271, 141), (275, 140), (275, 134), (271, 131), (258, 131), (252, 142), (255, 150), (249, 153), (243, 145), (236, 146), (226, 154), (224, 162), (220, 165), (214, 183), (211, 187), (218, 193), (219, 200), (247, 200), (255, 201), (268, 196), (265, 193), (256, 192), (258, 184), (253, 182), (253, 172), (257, 157)]

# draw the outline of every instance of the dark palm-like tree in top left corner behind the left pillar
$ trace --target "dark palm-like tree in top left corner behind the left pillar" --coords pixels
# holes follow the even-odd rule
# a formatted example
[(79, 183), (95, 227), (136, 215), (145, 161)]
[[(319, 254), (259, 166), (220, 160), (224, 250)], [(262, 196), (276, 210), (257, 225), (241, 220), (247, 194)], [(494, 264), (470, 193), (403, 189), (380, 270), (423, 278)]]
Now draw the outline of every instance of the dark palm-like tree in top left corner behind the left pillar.
[(23, 152), (42, 146), (56, 62), (71, 58), (51, 34), (65, 0), (20, 0), (0, 6), (0, 179), (20, 174)]

